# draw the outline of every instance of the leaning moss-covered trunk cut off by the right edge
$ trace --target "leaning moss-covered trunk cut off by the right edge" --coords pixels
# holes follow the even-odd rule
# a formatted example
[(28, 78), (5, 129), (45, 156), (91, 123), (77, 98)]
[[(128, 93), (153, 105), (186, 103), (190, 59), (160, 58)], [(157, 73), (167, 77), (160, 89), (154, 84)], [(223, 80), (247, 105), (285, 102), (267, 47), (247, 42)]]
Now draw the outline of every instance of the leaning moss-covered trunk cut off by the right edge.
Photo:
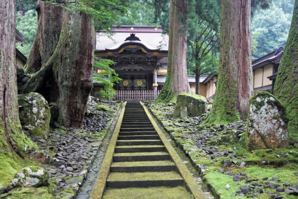
[(289, 116), (289, 133), (298, 139), (298, 0), (274, 85), (274, 95), (284, 103)]

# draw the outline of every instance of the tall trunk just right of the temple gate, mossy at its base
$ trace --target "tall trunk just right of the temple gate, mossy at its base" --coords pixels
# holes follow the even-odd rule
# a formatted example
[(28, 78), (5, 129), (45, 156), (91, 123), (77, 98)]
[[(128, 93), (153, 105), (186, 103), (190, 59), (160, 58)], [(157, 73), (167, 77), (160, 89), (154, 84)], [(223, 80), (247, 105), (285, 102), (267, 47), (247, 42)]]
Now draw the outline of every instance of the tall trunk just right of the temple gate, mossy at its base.
[(165, 83), (156, 102), (169, 102), (180, 93), (189, 93), (186, 69), (187, 1), (170, 0), (169, 49)]

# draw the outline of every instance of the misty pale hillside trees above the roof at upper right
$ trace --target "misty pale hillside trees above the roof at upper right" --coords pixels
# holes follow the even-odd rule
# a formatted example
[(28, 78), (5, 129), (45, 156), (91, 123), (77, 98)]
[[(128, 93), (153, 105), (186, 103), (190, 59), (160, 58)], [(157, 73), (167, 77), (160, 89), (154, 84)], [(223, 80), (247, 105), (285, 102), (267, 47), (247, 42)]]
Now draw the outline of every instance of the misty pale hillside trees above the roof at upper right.
[(293, 12), (293, 0), (275, 0), (270, 9), (257, 11), (252, 18), (253, 59), (286, 45)]

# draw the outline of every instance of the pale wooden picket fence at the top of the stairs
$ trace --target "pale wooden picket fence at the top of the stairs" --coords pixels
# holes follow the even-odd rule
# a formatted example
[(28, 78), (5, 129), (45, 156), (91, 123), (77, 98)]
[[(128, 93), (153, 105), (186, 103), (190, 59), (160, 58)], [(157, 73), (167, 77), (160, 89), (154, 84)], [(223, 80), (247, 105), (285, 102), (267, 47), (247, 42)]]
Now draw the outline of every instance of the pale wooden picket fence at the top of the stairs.
[(155, 100), (160, 91), (140, 90), (140, 91), (117, 91), (114, 100), (119, 101), (146, 101)]

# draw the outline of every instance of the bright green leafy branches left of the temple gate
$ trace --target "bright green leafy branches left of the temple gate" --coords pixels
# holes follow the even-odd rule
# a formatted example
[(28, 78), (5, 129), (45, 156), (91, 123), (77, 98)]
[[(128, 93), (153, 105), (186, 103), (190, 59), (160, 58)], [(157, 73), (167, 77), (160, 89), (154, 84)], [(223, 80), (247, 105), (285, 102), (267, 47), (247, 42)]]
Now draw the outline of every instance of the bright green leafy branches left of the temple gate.
[(110, 65), (114, 64), (115, 62), (109, 59), (94, 61), (94, 68), (100, 70), (100, 73), (93, 75), (93, 81), (103, 85), (103, 89), (97, 92), (101, 97), (113, 98), (116, 95), (116, 90), (113, 87), (121, 79), (116, 71), (110, 68)]

